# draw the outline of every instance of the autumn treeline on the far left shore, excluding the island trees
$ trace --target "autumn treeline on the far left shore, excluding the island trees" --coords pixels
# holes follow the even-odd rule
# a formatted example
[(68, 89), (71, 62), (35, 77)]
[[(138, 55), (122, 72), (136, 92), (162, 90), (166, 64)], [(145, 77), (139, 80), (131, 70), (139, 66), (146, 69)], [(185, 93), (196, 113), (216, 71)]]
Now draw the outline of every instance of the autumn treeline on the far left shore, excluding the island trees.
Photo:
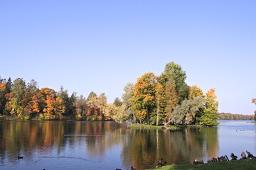
[(29, 120), (107, 120), (103, 108), (107, 106), (105, 94), (97, 96), (94, 92), (85, 98), (60, 87), (56, 92), (49, 88), (38, 88), (36, 81), (26, 84), (22, 78), (0, 79), (0, 114), (5, 118)]

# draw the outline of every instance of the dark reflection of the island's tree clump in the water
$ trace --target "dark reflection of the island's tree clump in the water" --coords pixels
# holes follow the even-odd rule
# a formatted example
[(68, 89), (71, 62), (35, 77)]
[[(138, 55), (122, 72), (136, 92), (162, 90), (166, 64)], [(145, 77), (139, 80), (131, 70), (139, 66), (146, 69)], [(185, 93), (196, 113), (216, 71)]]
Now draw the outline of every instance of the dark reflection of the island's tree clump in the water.
[[(123, 164), (137, 169), (154, 168), (159, 159), (168, 164), (188, 164), (218, 155), (217, 128), (185, 130), (127, 130)], [(206, 150), (204, 149), (206, 148)]]

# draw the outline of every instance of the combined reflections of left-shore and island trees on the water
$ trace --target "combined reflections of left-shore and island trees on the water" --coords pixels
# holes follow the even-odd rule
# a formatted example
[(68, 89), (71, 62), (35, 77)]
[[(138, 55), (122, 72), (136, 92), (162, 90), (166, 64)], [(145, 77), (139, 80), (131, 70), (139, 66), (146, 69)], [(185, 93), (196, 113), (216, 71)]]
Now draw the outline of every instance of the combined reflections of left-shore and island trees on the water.
[(53, 149), (63, 155), (67, 146), (83, 149), (87, 157), (97, 159), (120, 147), (125, 169), (154, 168), (162, 158), (167, 164), (187, 164), (218, 156), (217, 128), (152, 130), (110, 122), (1, 121), (0, 137), (1, 164), (5, 159), (16, 164), (18, 155), (50, 155)]

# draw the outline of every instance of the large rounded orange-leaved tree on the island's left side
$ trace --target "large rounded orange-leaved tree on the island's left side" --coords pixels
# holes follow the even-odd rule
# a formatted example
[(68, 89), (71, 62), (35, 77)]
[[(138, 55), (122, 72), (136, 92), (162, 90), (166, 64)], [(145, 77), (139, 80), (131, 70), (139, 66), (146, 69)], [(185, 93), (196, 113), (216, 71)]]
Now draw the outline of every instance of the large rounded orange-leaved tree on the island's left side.
[(156, 77), (154, 73), (146, 73), (137, 79), (134, 84), (132, 105), (140, 123), (149, 123), (152, 113), (156, 108)]

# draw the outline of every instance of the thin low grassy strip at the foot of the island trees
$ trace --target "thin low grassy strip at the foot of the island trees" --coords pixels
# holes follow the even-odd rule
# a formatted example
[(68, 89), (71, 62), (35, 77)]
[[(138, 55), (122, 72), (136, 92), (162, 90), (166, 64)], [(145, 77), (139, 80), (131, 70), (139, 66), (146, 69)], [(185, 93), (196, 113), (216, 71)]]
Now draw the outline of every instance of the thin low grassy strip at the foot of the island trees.
[[(130, 128), (145, 128), (145, 129), (161, 129), (163, 125), (144, 125), (144, 124), (132, 124), (129, 126)], [(182, 128), (188, 128), (188, 127), (203, 127), (203, 125), (169, 125), (168, 128), (171, 130), (178, 130)]]

